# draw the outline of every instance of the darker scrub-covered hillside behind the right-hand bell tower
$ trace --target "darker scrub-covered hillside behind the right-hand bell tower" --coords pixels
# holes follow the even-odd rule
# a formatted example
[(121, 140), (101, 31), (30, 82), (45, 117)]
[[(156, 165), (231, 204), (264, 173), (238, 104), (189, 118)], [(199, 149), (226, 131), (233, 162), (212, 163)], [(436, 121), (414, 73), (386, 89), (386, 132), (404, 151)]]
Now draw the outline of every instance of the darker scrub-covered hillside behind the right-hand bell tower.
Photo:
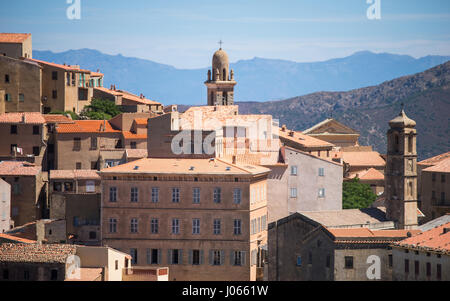
[(417, 122), (419, 159), (450, 150), (450, 61), (378, 86), (238, 104), (242, 114), (271, 114), (295, 130), (332, 117), (359, 131), (360, 144), (380, 153), (386, 153), (388, 122), (404, 104), (408, 117)]

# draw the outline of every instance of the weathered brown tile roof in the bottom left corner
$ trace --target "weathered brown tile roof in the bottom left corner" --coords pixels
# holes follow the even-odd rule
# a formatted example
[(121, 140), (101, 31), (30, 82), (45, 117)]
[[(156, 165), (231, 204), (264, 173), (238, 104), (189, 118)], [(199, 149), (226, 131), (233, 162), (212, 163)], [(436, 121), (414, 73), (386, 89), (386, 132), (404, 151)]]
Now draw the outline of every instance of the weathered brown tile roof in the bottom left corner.
[(1, 244), (0, 262), (65, 263), (76, 246), (65, 244)]

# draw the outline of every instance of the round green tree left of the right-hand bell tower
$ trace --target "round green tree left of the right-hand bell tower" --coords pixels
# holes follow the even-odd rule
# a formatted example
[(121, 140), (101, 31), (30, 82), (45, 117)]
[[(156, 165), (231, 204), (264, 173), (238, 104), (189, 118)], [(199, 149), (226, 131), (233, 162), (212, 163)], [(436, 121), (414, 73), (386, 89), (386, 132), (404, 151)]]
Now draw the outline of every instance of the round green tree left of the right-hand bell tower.
[(370, 185), (363, 184), (358, 178), (345, 181), (342, 187), (342, 203), (344, 209), (368, 208), (376, 200)]

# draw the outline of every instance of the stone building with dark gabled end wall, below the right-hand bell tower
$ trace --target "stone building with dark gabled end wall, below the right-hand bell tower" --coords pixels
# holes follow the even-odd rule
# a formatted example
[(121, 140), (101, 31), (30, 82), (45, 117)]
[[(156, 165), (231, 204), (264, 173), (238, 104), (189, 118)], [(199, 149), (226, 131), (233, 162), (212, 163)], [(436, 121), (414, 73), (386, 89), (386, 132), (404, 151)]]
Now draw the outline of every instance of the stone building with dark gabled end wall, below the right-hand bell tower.
[[(391, 280), (390, 244), (406, 238), (408, 232), (420, 231), (388, 228), (389, 222), (374, 208), (296, 213), (271, 223), (269, 280)], [(372, 255), (380, 259), (381, 270), (379, 278), (369, 279), (367, 271), (372, 263), (367, 261)]]

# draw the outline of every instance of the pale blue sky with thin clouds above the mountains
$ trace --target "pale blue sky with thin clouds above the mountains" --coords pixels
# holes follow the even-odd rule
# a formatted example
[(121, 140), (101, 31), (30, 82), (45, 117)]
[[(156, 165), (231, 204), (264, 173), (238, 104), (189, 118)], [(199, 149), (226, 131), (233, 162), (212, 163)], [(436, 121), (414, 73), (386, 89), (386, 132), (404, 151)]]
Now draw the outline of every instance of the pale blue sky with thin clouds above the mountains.
[[(74, 1), (80, 19), (67, 16)], [(380, 19), (369, 19), (375, 1)], [(314, 62), (362, 50), (450, 55), (448, 0), (0, 0), (0, 7), (0, 32), (31, 33), (35, 50), (90, 48), (183, 69), (208, 66), (220, 40), (231, 62)]]

